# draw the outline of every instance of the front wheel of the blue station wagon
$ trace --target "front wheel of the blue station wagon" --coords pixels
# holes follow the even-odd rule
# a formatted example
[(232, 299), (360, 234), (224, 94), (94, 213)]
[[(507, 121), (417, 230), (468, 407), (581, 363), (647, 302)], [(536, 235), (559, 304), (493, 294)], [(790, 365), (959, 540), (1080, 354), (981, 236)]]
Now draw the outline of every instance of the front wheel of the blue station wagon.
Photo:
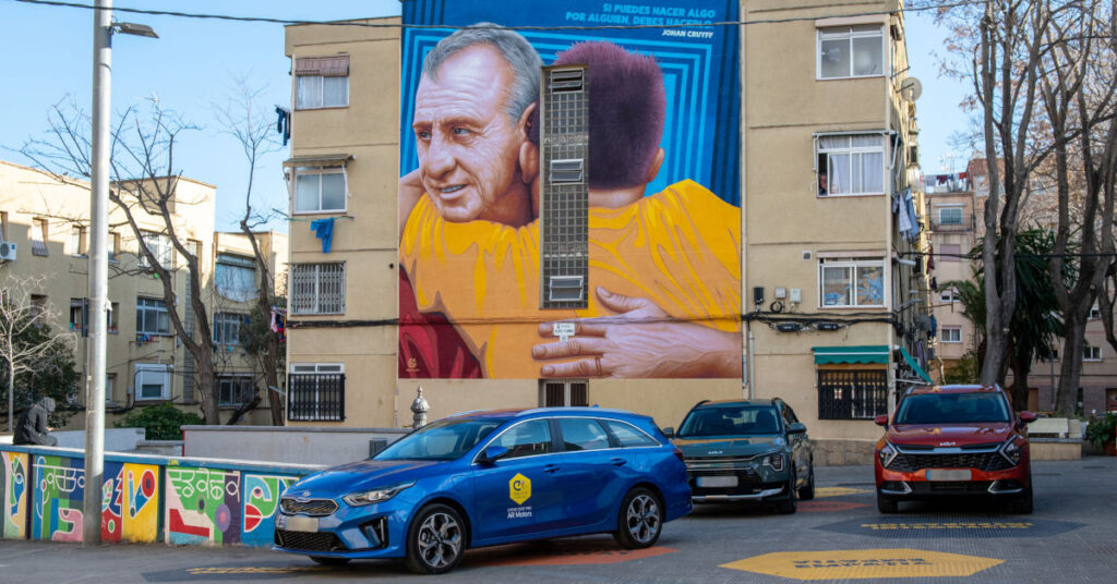
[(466, 552), (466, 523), (457, 509), (431, 504), (416, 514), (408, 529), (408, 569), (417, 574), (443, 574), (461, 563)]

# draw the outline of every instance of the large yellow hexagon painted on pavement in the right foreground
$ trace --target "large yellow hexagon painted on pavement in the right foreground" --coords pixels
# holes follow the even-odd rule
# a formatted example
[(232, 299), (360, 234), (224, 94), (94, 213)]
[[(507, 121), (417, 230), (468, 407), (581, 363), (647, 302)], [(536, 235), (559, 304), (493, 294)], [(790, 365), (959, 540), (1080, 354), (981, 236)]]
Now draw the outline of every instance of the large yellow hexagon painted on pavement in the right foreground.
[(923, 549), (836, 549), (779, 552), (720, 567), (794, 580), (860, 580), (972, 576), (1003, 559)]

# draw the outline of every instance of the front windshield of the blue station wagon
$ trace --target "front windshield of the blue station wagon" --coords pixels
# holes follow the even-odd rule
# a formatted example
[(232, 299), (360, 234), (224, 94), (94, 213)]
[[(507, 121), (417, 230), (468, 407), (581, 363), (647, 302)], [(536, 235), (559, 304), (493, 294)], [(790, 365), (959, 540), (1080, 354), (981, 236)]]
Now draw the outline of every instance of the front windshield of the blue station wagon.
[(441, 420), (392, 442), (374, 460), (457, 460), (504, 419)]

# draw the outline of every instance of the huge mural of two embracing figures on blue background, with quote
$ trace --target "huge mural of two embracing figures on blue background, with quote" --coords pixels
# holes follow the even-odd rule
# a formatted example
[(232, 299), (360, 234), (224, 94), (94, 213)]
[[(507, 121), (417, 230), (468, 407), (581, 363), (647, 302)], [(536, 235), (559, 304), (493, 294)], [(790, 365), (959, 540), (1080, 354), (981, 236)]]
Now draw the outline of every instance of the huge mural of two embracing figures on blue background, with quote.
[[(401, 377), (739, 377), (736, 2), (403, 6)], [(594, 30), (467, 29), (652, 25)], [(672, 28), (672, 25), (699, 25)], [(541, 308), (538, 74), (586, 65), (580, 309)], [(555, 323), (575, 322), (555, 338)]]

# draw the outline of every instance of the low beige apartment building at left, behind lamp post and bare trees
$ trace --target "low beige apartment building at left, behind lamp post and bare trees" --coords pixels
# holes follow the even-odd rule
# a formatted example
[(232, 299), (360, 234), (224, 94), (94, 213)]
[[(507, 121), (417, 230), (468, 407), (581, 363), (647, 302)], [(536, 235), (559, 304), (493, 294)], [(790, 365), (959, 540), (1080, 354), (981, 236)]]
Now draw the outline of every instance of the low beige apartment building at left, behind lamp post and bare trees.
[[(174, 186), (174, 227), (200, 258), (203, 303), (216, 331), (219, 355), (219, 403), (227, 418), (241, 403), (247, 387), (244, 380), (254, 371), (239, 348), (241, 315), (250, 309), (255, 295), (254, 257), (244, 236), (214, 233), (216, 186), (180, 178)], [(198, 411), (194, 366), (190, 354), (173, 335), (168, 310), (179, 312), (190, 328), (189, 272), (183, 268), (170, 239), (163, 234), (161, 219), (137, 210), (136, 221), (149, 247), (172, 270), (180, 301), (168, 307), (163, 286), (155, 276), (139, 270), (139, 242), (123, 212), (109, 209), (111, 232), (108, 299), (112, 306), (107, 327), (105, 400), (106, 423), (147, 404), (172, 403), (184, 411)], [(75, 365), (85, 370), (87, 339), (80, 336), (86, 324), (85, 298), (88, 289), (89, 184), (85, 181), (59, 182), (49, 173), (0, 161), (0, 239), (12, 243), (15, 251), (0, 260), (0, 280), (46, 276), (32, 301), (49, 305), (60, 315), (55, 325), (78, 335)], [(279, 270), (286, 261), (286, 238), (264, 233), (265, 248)], [(252, 296), (255, 297), (255, 296)], [(218, 326), (223, 324), (226, 326)], [(237, 326), (231, 326), (236, 324)], [(82, 375), (84, 379), (84, 374)], [(83, 390), (79, 389), (79, 392)], [(80, 396), (76, 398), (80, 403)], [(250, 412), (249, 423), (269, 423), (265, 409)], [(80, 428), (84, 418), (70, 419), (70, 429)]]

